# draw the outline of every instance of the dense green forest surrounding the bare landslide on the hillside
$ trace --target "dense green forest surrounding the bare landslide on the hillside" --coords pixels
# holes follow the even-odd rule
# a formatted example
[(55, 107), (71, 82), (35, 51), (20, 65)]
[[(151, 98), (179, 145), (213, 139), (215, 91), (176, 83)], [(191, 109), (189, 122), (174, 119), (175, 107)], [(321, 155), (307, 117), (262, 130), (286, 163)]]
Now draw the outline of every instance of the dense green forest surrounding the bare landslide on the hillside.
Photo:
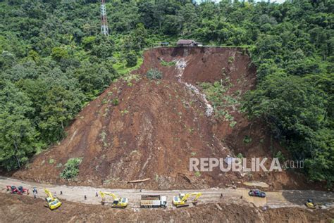
[(334, 2), (0, 0), (0, 165), (57, 144), (82, 108), (178, 38), (247, 48), (257, 87), (244, 98), (311, 180), (334, 180)]

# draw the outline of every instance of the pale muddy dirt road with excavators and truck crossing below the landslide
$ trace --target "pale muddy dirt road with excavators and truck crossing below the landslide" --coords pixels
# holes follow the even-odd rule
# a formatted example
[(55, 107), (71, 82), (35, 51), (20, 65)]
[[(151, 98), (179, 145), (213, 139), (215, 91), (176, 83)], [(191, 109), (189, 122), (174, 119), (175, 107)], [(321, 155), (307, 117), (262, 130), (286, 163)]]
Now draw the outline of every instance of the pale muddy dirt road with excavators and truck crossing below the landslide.
[[(173, 191), (151, 191), (139, 189), (103, 189), (94, 188), (89, 186), (64, 186), (64, 185), (48, 185), (38, 184), (35, 182), (20, 181), (18, 179), (11, 179), (6, 177), (0, 177), (0, 189), (1, 192), (6, 193), (7, 185), (23, 186), (30, 189), (30, 196), (32, 195), (33, 187), (36, 187), (38, 193), (37, 198), (44, 199), (44, 188), (49, 189), (52, 193), (56, 192), (57, 197), (60, 200), (69, 200), (76, 203), (94, 204), (99, 205), (101, 198), (96, 197), (95, 194), (98, 191), (111, 191), (118, 196), (129, 198), (129, 208), (140, 208), (140, 196), (149, 194), (160, 194), (167, 196), (168, 201), (171, 201), (173, 196), (180, 192), (187, 193), (190, 190), (173, 190)], [(63, 192), (60, 195), (60, 191)], [(308, 198), (313, 198), (316, 202), (327, 203), (333, 202), (334, 193), (325, 191), (274, 191), (266, 192), (266, 198), (254, 198), (248, 196), (248, 189), (205, 189), (197, 190), (202, 192), (202, 196), (199, 198), (199, 204), (201, 203), (218, 203), (224, 200), (235, 201), (242, 200), (249, 203), (254, 203), (257, 207), (268, 205), (269, 208), (283, 208), (293, 206), (304, 206), (304, 203)], [(192, 192), (194, 192), (192, 190)], [(223, 198), (221, 198), (221, 194)], [(87, 196), (87, 200), (85, 200)], [(168, 209), (173, 209), (171, 202), (168, 203)]]

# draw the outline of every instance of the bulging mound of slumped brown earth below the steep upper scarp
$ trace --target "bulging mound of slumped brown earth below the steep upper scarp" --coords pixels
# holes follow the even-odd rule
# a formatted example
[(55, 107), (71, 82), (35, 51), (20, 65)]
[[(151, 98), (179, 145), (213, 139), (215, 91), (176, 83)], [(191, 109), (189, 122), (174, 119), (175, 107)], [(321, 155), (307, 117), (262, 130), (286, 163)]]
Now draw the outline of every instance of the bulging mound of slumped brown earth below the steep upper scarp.
[(66, 139), (37, 155), (16, 177), (63, 183), (59, 179), (63, 164), (68, 158), (82, 158), (78, 184), (97, 186), (104, 181), (106, 186), (130, 187), (128, 180), (151, 178), (146, 186), (170, 189), (206, 187), (209, 181), (218, 181), (197, 179), (188, 170), (192, 155), (228, 153), (214, 137), (206, 108), (196, 96), (168, 80), (129, 83), (113, 84), (90, 103)]

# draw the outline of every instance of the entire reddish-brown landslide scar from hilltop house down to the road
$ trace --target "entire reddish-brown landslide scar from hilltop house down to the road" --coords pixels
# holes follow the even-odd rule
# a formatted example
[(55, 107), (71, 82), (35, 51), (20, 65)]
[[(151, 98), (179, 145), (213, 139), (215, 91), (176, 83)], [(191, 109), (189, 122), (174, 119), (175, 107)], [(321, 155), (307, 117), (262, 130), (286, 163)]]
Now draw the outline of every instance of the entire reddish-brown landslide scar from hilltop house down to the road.
[[(149, 70), (162, 79), (147, 79)], [(205, 85), (202, 83), (211, 83)], [(223, 115), (204, 95), (223, 89)], [(190, 172), (189, 158), (271, 156), (280, 146), (261, 123), (240, 113), (240, 100), (256, 84), (256, 69), (242, 49), (218, 47), (156, 48), (144, 51), (144, 63), (89, 103), (54, 148), (36, 155), (13, 177), (56, 184), (109, 188), (205, 189), (243, 181), (264, 181), (273, 189), (306, 188), (291, 172)], [(210, 94), (210, 93), (209, 93)], [(245, 137), (252, 139), (245, 143)], [(75, 181), (59, 177), (69, 158), (82, 158)], [(129, 180), (150, 178), (141, 184)]]

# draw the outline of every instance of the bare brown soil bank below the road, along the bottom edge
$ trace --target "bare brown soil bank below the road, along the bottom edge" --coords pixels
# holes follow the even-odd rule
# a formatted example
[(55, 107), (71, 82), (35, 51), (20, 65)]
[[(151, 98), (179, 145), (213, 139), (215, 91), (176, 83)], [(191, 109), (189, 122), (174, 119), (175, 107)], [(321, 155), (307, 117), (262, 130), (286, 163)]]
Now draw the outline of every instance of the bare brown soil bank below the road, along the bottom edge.
[(263, 212), (247, 204), (218, 203), (177, 210), (120, 210), (66, 201), (58, 210), (42, 199), (0, 193), (1, 222), (330, 222), (334, 210), (277, 208)]

